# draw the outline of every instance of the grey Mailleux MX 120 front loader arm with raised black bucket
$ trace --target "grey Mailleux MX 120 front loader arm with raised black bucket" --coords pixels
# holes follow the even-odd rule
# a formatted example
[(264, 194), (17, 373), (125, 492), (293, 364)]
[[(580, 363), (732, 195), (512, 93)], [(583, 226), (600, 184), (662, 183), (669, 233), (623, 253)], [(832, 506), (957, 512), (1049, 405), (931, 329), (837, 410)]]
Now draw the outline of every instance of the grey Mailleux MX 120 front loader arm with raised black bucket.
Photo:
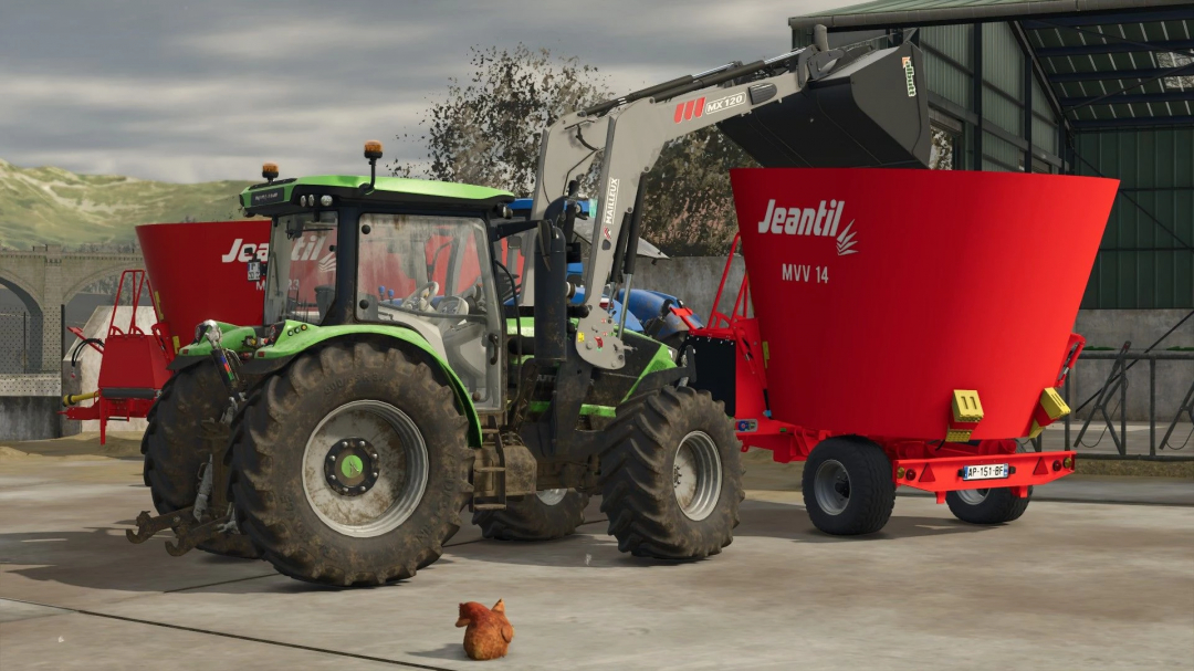
[[(599, 207), (583, 278), (585, 304), (574, 333), (580, 358), (605, 370), (624, 364), (620, 328), (602, 298), (630, 282), (633, 261), (624, 259), (633, 256), (638, 230), (632, 229), (638, 223), (623, 227), (641, 220), (630, 216), (642, 208), (635, 202), (642, 193), (639, 183), (669, 141), (721, 124), (764, 166), (924, 167), (930, 134), (927, 100), (917, 94), (917, 84), (924, 87), (916, 68), (918, 53), (907, 43), (881, 50), (864, 44), (829, 49), (825, 29), (817, 26), (811, 47), (682, 76), (552, 124), (540, 150), (533, 220), (564, 211), (561, 197), (574, 197), (570, 183), (592, 165), (605, 134)], [(805, 94), (810, 82), (817, 82), (816, 90)], [(547, 222), (543, 230), (556, 223)], [(565, 224), (561, 232), (570, 229)], [(547, 247), (540, 247), (546, 258)], [(533, 302), (533, 277), (524, 277), (524, 306)]]

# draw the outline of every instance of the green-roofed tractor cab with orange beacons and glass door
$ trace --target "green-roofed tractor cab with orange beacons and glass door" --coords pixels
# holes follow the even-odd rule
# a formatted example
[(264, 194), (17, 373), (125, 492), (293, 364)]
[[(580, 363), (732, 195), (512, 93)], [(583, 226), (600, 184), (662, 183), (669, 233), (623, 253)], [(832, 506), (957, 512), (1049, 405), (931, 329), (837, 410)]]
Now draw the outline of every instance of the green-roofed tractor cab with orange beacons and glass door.
[(276, 180), (272, 164), (263, 176), (241, 196), (248, 214), (272, 220), (266, 260), (248, 261), (250, 277), (265, 279), (263, 350), (291, 322), (401, 326), (448, 363), (478, 410), (500, 408), (505, 318), (488, 228), (510, 193), (376, 176)]

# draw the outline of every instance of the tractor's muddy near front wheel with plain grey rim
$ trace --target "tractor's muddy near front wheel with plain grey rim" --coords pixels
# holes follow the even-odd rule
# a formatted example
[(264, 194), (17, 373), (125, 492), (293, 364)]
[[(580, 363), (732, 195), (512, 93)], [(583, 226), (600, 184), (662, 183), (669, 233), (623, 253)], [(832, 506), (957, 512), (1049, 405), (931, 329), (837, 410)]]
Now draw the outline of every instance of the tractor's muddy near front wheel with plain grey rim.
[(740, 443), (708, 392), (665, 387), (617, 408), (601, 457), (602, 512), (617, 549), (700, 559), (733, 541), (745, 497)]

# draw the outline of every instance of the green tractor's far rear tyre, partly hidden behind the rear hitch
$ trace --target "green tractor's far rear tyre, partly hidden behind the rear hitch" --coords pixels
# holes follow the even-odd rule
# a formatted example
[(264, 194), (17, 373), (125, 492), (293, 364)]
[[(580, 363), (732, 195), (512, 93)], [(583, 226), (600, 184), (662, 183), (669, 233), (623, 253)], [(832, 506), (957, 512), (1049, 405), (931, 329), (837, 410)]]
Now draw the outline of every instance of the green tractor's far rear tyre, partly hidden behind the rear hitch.
[[(205, 419), (219, 420), (227, 404), (226, 387), (213, 362), (180, 370), (162, 386), (161, 395), (149, 408), (148, 427), (141, 438), (142, 479), (159, 515), (195, 504), (199, 468), (210, 454), (202, 424)], [(261, 555), (242, 534), (217, 536), (198, 547), (241, 559)]]

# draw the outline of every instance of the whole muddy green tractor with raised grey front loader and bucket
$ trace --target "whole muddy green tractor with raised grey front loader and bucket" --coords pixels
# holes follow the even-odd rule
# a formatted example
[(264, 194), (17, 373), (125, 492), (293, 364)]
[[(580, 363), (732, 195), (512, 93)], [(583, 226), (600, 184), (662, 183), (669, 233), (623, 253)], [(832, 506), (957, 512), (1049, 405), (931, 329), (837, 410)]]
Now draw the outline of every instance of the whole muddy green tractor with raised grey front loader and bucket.
[[(487, 537), (550, 540), (601, 494), (622, 552), (719, 553), (740, 443), (697, 387), (704, 340), (667, 346), (613, 309), (634, 277), (642, 177), (712, 125), (770, 167), (921, 165), (911, 49), (830, 49), (818, 26), (811, 47), (565, 115), (543, 131), (529, 217), (504, 191), (376, 178), (376, 142), (369, 178), (276, 180), (267, 165), (241, 195), (272, 221), (267, 263), (248, 261), (264, 324), (204, 322), (180, 350), (143, 445), (160, 515), (130, 540), (170, 528), (172, 554), (374, 585), (435, 561), (464, 506)], [(578, 227), (577, 178), (597, 158), (598, 205)], [(716, 352), (702, 358), (716, 390)]]

